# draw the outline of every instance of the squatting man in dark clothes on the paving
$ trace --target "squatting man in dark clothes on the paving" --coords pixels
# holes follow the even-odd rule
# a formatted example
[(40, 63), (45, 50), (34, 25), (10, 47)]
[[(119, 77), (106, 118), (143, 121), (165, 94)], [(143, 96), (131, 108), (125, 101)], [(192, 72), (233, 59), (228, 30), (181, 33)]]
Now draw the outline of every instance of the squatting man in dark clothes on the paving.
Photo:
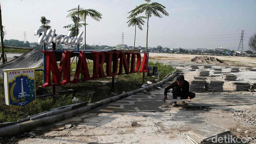
[[(177, 99), (177, 97), (181, 97), (180, 99), (188, 99), (196, 97), (196, 94), (193, 92), (189, 92), (189, 82), (184, 79), (183, 75), (178, 75), (176, 80), (165, 88), (165, 97), (163, 101), (167, 100), (167, 91), (169, 89), (173, 89), (173, 99)], [(173, 102), (172, 106), (176, 106), (177, 102)], [(187, 104), (185, 101), (182, 101), (182, 104)]]

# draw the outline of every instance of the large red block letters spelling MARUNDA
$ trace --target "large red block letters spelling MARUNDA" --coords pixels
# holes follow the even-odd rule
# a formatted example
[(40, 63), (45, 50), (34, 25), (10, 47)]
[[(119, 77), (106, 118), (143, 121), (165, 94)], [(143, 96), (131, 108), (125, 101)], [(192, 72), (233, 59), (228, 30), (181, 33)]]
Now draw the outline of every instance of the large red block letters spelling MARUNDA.
[[(141, 62), (141, 55), (139, 52), (99, 52), (92, 51), (93, 54), (93, 75), (89, 74), (88, 65), (86, 62), (86, 55), (84, 51), (80, 51), (78, 64), (75, 71), (74, 79), (70, 79), (70, 58), (73, 51), (63, 51), (60, 65), (57, 65), (54, 51), (42, 51), (45, 54), (45, 83), (42, 87), (49, 87), (53, 85), (52, 78), (55, 85), (64, 85), (67, 83), (80, 82), (79, 75), (83, 75), (82, 81), (91, 79), (98, 79), (104, 77), (114, 77), (115, 75), (122, 75), (123, 69), (125, 74), (148, 72), (148, 58), (147, 53), (144, 53)], [(106, 58), (106, 74), (103, 70), (103, 63)], [(119, 59), (119, 62), (118, 62)], [(119, 68), (119, 69), (118, 69)], [(63, 75), (63, 81), (61, 77)]]

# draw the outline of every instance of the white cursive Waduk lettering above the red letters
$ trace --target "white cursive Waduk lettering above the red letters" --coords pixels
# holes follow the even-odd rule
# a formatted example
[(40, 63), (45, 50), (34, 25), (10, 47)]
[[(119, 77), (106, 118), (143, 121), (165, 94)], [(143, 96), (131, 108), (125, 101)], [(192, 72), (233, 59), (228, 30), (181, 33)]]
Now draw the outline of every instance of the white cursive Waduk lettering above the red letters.
[(37, 44), (39, 46), (50, 45), (51, 43), (56, 44), (74, 44), (74, 45), (82, 45), (83, 44), (83, 31), (79, 32), (78, 36), (71, 36), (71, 31), (68, 32), (67, 35), (56, 35), (55, 30), (49, 29), (46, 30), (46, 28), (38, 28), (35, 30), (35, 35), (39, 35), (39, 39), (37, 41)]

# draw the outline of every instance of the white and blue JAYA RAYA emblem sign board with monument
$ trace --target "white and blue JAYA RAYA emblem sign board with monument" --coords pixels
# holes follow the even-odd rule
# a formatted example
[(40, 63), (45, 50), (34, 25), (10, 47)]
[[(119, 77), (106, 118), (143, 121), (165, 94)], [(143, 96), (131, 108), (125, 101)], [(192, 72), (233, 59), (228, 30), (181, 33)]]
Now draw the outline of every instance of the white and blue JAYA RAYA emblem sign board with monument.
[(35, 100), (35, 68), (3, 71), (6, 105), (23, 107)]

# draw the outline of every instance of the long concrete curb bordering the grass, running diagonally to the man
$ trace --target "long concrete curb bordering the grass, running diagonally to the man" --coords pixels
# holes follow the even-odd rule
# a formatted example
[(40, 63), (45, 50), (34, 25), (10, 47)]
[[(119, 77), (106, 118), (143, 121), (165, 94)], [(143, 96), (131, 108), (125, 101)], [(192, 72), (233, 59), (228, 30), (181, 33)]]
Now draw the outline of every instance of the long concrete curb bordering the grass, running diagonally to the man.
[(77, 107), (77, 108), (74, 108), (74, 109), (66, 108), (66, 109), (68, 109), (68, 111), (65, 111), (66, 109), (62, 109), (62, 110), (59, 110), (60, 113), (51, 113), (50, 115), (48, 114), (45, 117), (38, 117), (38, 118), (35, 118), (33, 120), (22, 121), (22, 122), (15, 123), (15, 124), (11, 123), (11, 125), (6, 125), (4, 127), (0, 127), (0, 136), (11, 136), (11, 135), (15, 135), (15, 134), (18, 134), (18, 133), (23, 133), (23, 132), (29, 131), (30, 129), (38, 127), (38, 126), (42, 126), (42, 125), (45, 125), (45, 124), (52, 124), (53, 122), (57, 122), (57, 121), (60, 121), (60, 120), (64, 120), (64, 119), (67, 119), (67, 118), (74, 117), (74, 116), (76, 116), (76, 114), (81, 114), (81, 113), (84, 113), (88, 110), (91, 110), (91, 109), (97, 108), (99, 106), (108, 104), (110, 102), (114, 102), (114, 101), (120, 100), (122, 98), (131, 96), (133, 94), (143, 92), (144, 90), (149, 90), (149, 89), (153, 89), (155, 87), (161, 86), (161, 85), (163, 85), (163, 83), (165, 83), (165, 82), (169, 81), (170, 79), (174, 78), (177, 74), (178, 74), (178, 72), (176, 71), (172, 75), (163, 79), (160, 82), (157, 82), (157, 83), (154, 83), (152, 85), (142, 87), (140, 89), (136, 89), (136, 90), (133, 90), (133, 91), (130, 91), (130, 92), (127, 92), (127, 93), (119, 94), (117, 96), (106, 98), (104, 100), (94, 102), (92, 104), (88, 104), (88, 105), (85, 105), (85, 106), (80, 106), (80, 107)]

